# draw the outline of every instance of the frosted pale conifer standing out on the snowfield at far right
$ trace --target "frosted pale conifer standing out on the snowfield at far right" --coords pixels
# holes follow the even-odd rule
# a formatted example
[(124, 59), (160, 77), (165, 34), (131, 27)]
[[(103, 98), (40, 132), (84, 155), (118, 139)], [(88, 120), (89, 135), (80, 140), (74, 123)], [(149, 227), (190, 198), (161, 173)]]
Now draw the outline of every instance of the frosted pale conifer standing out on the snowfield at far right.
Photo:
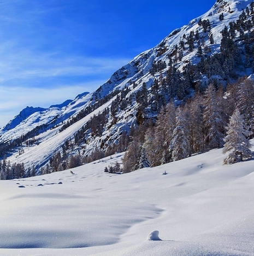
[(250, 141), (246, 136), (250, 134), (248, 127), (244, 124), (243, 116), (236, 109), (230, 118), (225, 137), (223, 153), (229, 152), (223, 160), (225, 164), (237, 163), (252, 157)]

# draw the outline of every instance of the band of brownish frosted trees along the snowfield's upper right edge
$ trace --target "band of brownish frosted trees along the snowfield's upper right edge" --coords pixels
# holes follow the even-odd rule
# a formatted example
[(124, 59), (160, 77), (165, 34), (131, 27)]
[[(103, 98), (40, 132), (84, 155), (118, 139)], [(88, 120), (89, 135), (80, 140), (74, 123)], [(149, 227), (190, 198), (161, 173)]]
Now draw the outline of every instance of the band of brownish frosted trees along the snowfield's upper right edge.
[[(237, 130), (231, 122), (235, 115), (240, 123), (239, 145), (246, 152), (235, 150), (225, 163), (251, 157), (247, 139), (254, 137), (253, 92), (253, 81), (245, 77), (228, 85), (226, 91), (210, 84), (203, 96), (196, 94), (186, 104), (175, 106), (170, 102), (162, 107), (156, 122), (146, 121), (137, 127), (123, 157), (123, 172), (178, 161), (224, 145), (231, 150), (227, 145), (233, 141), (232, 130)], [(228, 130), (231, 132), (227, 133)]]

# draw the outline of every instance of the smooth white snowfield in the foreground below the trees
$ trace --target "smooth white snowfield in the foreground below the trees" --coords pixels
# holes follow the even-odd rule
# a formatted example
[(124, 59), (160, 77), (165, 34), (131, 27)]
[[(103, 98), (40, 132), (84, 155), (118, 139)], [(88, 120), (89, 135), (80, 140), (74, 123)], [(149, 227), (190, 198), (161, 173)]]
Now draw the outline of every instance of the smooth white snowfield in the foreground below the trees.
[(254, 255), (253, 160), (223, 165), (219, 149), (104, 173), (121, 157), (0, 180), (0, 255)]

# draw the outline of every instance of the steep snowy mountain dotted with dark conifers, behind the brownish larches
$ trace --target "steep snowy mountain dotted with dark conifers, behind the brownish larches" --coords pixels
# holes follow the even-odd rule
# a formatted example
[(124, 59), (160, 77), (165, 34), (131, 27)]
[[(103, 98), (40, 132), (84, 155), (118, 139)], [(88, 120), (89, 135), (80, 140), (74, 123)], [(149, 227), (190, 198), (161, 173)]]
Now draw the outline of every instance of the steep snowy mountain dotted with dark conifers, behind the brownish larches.
[(217, 0), (207, 13), (117, 70), (96, 92), (49, 109), (22, 110), (0, 129), (1, 157), (38, 171), (67, 141), (72, 141), (68, 154), (105, 152), (169, 101), (180, 104), (209, 82), (227, 84), (251, 75), (253, 17), (251, 0)]

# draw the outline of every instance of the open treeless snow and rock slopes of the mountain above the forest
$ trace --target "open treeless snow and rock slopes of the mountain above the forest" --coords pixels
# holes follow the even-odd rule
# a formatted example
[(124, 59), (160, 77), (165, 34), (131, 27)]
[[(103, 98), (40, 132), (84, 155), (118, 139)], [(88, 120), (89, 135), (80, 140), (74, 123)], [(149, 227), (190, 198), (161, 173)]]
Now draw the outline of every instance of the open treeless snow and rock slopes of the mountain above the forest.
[[(46, 110), (26, 113), (25, 117), (21, 119), (15, 117), (5, 128), (0, 129), (0, 143), (19, 138), (21, 135), (43, 124), (47, 124), (48, 128), (44, 129), (42, 133), (36, 137), (39, 142), (37, 146), (33, 146), (29, 149), (25, 148), (25, 153), (22, 156), (19, 156), (19, 149), (16, 149), (10, 153), (9, 160), (11, 162), (24, 162), (26, 168), (32, 167), (33, 164), (36, 164), (38, 168), (43, 166), (43, 164), (49, 160), (49, 157), (61, 148), (64, 141), (73, 138), (74, 134), (84, 126), (93, 115), (98, 115), (99, 111), (102, 112), (105, 107), (110, 108), (115, 98), (109, 99), (108, 102), (100, 106), (98, 110), (93, 111), (85, 118), (60, 133), (59, 131), (63, 123), (68, 122), (68, 118), (75, 117), (80, 110), (84, 110), (87, 106), (96, 104), (99, 99), (109, 95), (109, 93), (114, 90), (121, 90), (127, 87), (130, 89), (130, 92), (126, 95), (128, 106), (125, 110), (119, 110), (116, 113), (115, 117), (117, 118), (117, 123), (112, 124), (113, 116), (110, 116), (108, 123), (104, 127), (102, 136), (94, 137), (90, 135), (88, 138), (90, 143), (85, 145), (86, 155), (89, 155), (96, 148), (102, 148), (102, 150), (106, 151), (107, 145), (118, 143), (123, 130), (128, 132), (129, 127), (136, 123), (138, 104), (133, 95), (140, 90), (143, 83), (146, 83), (148, 91), (151, 92), (151, 84), (154, 79), (166, 75), (167, 67), (151, 75), (150, 70), (152, 65), (158, 61), (164, 61), (168, 65), (169, 56), (173, 54), (175, 45), (179, 44), (185, 35), (190, 35), (191, 31), (198, 31), (200, 36), (204, 38), (204, 45), (207, 45), (211, 50), (207, 55), (220, 52), (222, 29), (225, 25), (228, 26), (229, 22), (238, 19), (242, 9), (246, 8), (251, 2), (251, 0), (218, 0), (207, 13), (197, 19), (193, 19), (188, 25), (176, 29), (170, 33), (168, 37), (164, 38), (160, 44), (156, 45), (156, 47), (141, 53), (120, 70), (117, 70), (106, 83), (96, 90), (96, 92), (80, 94), (67, 106), (55, 105)], [(221, 13), (223, 13), (225, 17), (222, 21), (219, 20)], [(214, 36), (215, 44), (210, 44), (208, 33), (204, 33), (202, 26), (198, 25), (200, 19), (210, 20), (211, 30), (209, 33), (212, 33)], [(193, 52), (188, 52), (186, 49), (182, 60), (178, 61), (176, 67), (182, 71), (186, 64), (197, 64), (199, 61), (200, 58), (197, 57), (197, 49)], [(222, 79), (221, 77), (219, 78)], [(204, 77), (204, 79), (206, 78)], [(133, 86), (133, 82), (135, 82), (135, 87)], [(147, 101), (148, 100), (152, 101), (150, 94), (147, 97)], [(147, 115), (154, 117), (157, 115), (157, 112), (150, 111)], [(79, 146), (75, 147), (74, 152), (78, 151), (78, 147)], [(39, 158), (39, 160), (37, 158)]]

